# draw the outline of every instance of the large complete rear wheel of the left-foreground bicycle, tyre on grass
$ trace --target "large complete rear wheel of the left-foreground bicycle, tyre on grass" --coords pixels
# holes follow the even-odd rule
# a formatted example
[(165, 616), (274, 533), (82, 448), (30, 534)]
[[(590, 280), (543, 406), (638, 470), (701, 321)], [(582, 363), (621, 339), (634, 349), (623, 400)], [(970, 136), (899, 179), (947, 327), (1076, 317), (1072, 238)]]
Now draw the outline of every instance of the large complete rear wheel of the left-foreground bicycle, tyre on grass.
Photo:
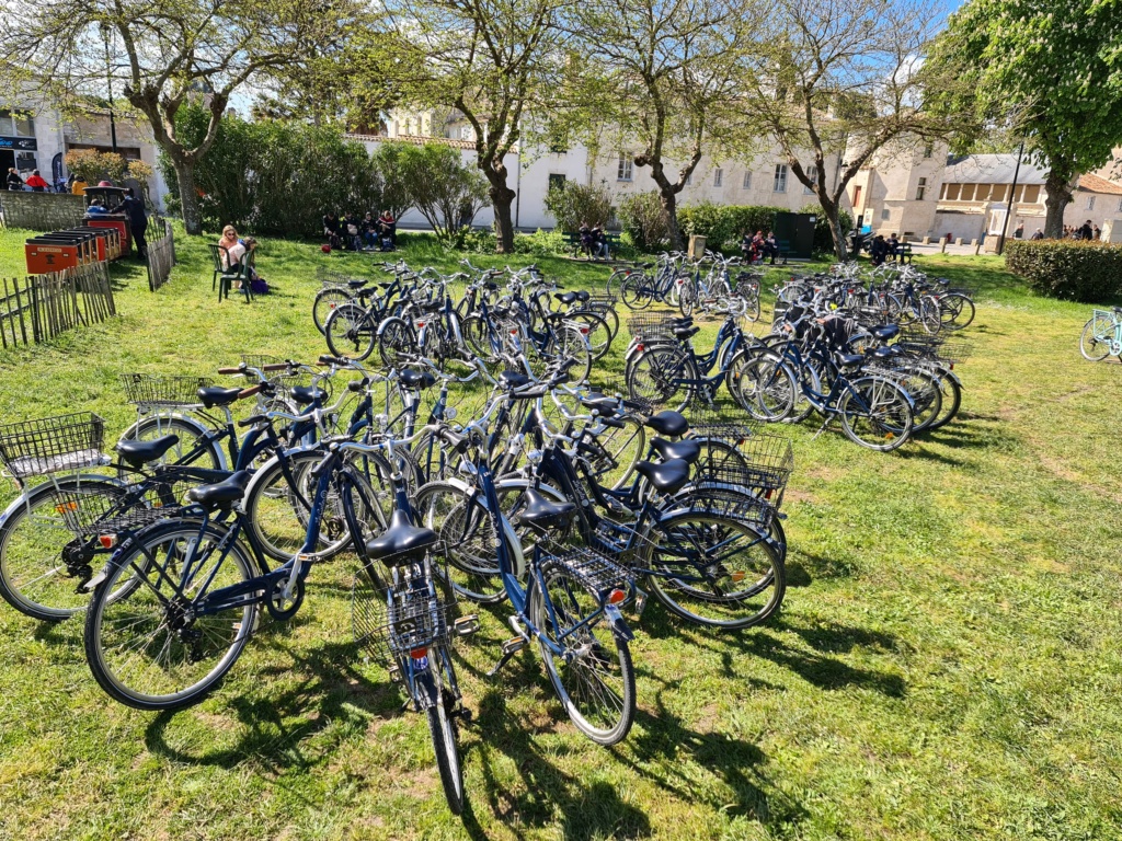
[[(257, 566), (237, 542), (222, 548), (226, 537), (214, 525), (171, 523), (113, 561), (85, 617), (86, 662), (110, 697), (137, 710), (190, 706), (237, 662), (257, 604), (206, 612), (205, 598), (255, 577)], [(110, 599), (126, 577), (128, 594)]]

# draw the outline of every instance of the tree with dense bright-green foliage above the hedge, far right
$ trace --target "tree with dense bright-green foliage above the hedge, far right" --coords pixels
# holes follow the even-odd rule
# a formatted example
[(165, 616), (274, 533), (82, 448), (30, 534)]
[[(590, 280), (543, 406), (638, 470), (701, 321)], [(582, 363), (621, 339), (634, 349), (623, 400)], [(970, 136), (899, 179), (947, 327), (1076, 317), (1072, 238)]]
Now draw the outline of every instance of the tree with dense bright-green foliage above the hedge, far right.
[(940, 101), (975, 118), (957, 150), (996, 131), (1048, 170), (1045, 235), (1060, 237), (1078, 174), (1106, 164), (1122, 139), (1122, 3), (971, 0), (930, 65), (964, 82)]

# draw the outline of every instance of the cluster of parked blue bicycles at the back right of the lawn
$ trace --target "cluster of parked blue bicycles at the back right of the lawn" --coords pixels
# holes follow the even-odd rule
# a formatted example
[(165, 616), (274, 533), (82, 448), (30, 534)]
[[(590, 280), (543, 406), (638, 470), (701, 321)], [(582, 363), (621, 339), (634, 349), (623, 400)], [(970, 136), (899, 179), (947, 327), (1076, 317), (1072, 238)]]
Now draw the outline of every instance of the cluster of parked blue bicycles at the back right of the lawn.
[[(962, 404), (954, 367), (971, 346), (956, 332), (974, 318), (969, 292), (929, 281), (910, 265), (874, 269), (867, 286), (858, 270), (838, 265), (776, 287), (771, 332), (758, 338), (744, 329), (737, 292), (718, 279), (721, 294), (707, 308), (724, 322), (708, 353), (695, 349), (700, 327), (690, 317), (631, 316), (631, 396), (684, 410), (714, 406), (724, 385), (756, 420), (795, 423), (817, 410), (825, 418), (819, 432), (837, 418), (852, 441), (880, 451), (946, 425)], [(679, 286), (687, 283), (678, 277)]]

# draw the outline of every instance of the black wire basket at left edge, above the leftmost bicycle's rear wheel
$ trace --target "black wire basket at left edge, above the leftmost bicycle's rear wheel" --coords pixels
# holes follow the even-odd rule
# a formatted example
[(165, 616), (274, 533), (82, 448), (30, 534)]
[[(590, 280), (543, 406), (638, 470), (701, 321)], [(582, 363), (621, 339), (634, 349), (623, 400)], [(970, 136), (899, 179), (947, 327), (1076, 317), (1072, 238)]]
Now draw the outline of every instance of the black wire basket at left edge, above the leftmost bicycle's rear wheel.
[(0, 463), (17, 479), (108, 464), (105, 422), (91, 412), (0, 426)]

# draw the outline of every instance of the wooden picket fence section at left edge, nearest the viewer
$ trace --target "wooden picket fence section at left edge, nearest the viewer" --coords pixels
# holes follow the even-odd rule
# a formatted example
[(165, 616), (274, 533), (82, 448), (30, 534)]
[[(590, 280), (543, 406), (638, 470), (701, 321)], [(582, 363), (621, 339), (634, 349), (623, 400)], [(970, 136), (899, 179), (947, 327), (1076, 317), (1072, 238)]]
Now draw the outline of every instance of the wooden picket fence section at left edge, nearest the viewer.
[(117, 315), (109, 264), (0, 278), (0, 348), (37, 344)]

